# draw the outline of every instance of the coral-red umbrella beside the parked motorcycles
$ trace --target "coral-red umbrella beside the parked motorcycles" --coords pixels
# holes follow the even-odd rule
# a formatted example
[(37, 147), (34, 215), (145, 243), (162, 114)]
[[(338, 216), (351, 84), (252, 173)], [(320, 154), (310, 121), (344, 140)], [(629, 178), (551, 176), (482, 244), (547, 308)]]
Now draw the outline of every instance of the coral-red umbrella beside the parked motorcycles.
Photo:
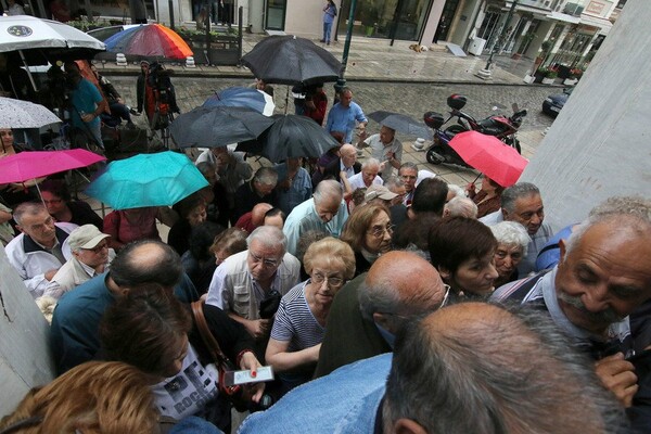
[(528, 163), (514, 148), (493, 136), (477, 131), (460, 132), (450, 146), (469, 166), (486, 174), (502, 187), (511, 187)]

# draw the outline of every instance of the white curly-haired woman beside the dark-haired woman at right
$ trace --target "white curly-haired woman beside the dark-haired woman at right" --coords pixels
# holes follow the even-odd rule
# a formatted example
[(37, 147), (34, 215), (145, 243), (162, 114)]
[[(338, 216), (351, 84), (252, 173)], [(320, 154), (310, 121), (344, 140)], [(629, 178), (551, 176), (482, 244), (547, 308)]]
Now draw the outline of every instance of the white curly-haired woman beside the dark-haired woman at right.
[(524, 226), (515, 221), (501, 221), (490, 227), (497, 239), (495, 251), (495, 268), (499, 277), (495, 288), (518, 280), (518, 264), (526, 256), (531, 238)]

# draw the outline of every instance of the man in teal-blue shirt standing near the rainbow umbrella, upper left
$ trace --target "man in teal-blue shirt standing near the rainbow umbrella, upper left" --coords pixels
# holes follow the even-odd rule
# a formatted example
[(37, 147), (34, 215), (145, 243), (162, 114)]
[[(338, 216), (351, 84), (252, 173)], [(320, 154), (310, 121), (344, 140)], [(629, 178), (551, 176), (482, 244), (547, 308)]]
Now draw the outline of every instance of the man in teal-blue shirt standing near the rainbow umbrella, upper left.
[(65, 73), (73, 87), (71, 92), (73, 125), (103, 148), (100, 115), (106, 111), (108, 103), (102, 98), (98, 88), (81, 76), (76, 62), (66, 62)]

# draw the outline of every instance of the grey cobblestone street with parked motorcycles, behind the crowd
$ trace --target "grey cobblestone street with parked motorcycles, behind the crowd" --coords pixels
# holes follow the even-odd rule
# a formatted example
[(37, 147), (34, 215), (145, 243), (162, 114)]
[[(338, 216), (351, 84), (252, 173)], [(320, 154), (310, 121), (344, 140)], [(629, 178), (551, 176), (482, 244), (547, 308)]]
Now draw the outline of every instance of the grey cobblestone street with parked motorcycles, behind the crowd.
[[(128, 103), (136, 105), (136, 79), (135, 77), (111, 77), (110, 79), (125, 97)], [(173, 77), (173, 82), (177, 90), (177, 100), (181, 112), (188, 112), (201, 104), (214, 91), (221, 90), (231, 86), (247, 86), (250, 79), (233, 78), (191, 78)], [(523, 155), (531, 157), (542, 140), (542, 132), (551, 125), (552, 119), (540, 113), (540, 105), (545, 97), (558, 92), (558, 89), (546, 87), (525, 87), (525, 86), (505, 86), (489, 84), (403, 84), (403, 82), (355, 82), (348, 81), (353, 89), (354, 100), (361, 105), (365, 113), (371, 113), (376, 110), (387, 110), (404, 113), (416, 119), (421, 119), (423, 113), (435, 111), (443, 114), (447, 113), (446, 98), (451, 93), (461, 93), (468, 97), (468, 105), (464, 112), (483, 118), (492, 114), (492, 105), (499, 103), (508, 108), (503, 114), (510, 115), (511, 104), (518, 103), (520, 107), (527, 108), (528, 115), (524, 118), (519, 132), (519, 138), (523, 148)], [(330, 104), (332, 101), (332, 87), (326, 88)], [(275, 86), (275, 100), (277, 104), (276, 113), (284, 113), (286, 86)], [(293, 102), (290, 95), (288, 113), (293, 113)], [(144, 126), (145, 117), (135, 118), (137, 123)], [(378, 132), (380, 126), (372, 120), (369, 123), (369, 132)], [(398, 138), (405, 144), (405, 161), (413, 161), (432, 170), (447, 182), (465, 186), (476, 177), (476, 173), (469, 169), (462, 169), (456, 166), (441, 165), (433, 166), (426, 163), (424, 152), (416, 152), (411, 148), (414, 137), (405, 137), (398, 135)]]

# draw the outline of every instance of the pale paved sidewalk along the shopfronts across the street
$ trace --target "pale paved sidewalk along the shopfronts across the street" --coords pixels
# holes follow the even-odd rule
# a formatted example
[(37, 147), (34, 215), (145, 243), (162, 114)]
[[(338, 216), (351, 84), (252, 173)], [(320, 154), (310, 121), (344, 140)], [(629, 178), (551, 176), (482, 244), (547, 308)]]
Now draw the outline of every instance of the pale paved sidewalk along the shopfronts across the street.
[[(245, 34), (242, 41), (242, 52), (246, 54), (265, 35)], [(315, 40), (315, 43), (341, 59), (344, 51), (344, 40), (326, 46)], [(432, 44), (427, 51), (417, 53), (409, 49), (411, 41), (394, 41), (390, 46), (387, 39), (354, 37), (348, 53), (345, 78), (352, 81), (393, 81), (393, 82), (458, 82), (458, 84), (492, 84), (508, 86), (525, 85), (522, 80), (529, 60), (513, 61), (509, 56), (496, 56), (493, 78), (483, 80), (475, 73), (486, 65), (486, 56), (468, 54), (459, 58), (451, 54), (444, 43)], [(117, 66), (114, 62), (98, 64), (100, 71), (107, 75), (138, 75), (139, 65)], [(238, 66), (206, 66), (197, 65), (188, 68), (183, 63), (173, 64), (177, 76), (187, 77), (224, 77), (248, 78), (253, 74), (246, 67)]]

